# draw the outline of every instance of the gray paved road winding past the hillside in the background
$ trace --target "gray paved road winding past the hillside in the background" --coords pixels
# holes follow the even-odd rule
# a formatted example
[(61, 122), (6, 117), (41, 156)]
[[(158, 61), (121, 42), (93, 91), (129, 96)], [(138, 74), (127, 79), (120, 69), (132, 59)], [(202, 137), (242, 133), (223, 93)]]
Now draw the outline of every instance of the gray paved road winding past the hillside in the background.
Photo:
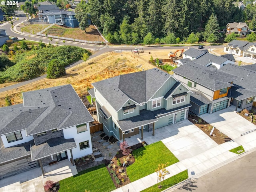
[[(17, 11), (15, 12), (15, 15), (16, 17), (19, 18), (19, 20), (15, 20), (13, 22), (13, 25), (15, 26), (16, 24), (20, 23), (20, 22), (23, 22), (24, 20), (26, 20), (26, 14), (24, 14), (24, 12), (22, 11)], [(4, 25), (1, 25), (0, 24), (0, 28), (2, 29), (6, 29), (7, 30), (7, 34), (10, 35), (10, 36), (16, 36), (18, 37), (19, 39), (27, 39), (27, 40), (33, 40), (33, 41), (40, 41), (42, 40), (42, 42), (45, 42), (45, 43), (48, 43), (49, 42), (49, 39), (48, 38), (43, 38), (43, 37), (40, 37), (40, 36), (30, 36), (30, 35), (24, 35), (24, 34), (20, 34), (20, 33), (16, 33), (14, 31), (11, 30), (11, 24), (8, 23), (8, 24), (4, 24)], [(62, 42), (62, 40), (55, 40), (54, 39), (54, 42), (58, 41), (58, 44), (59, 45), (64, 45), (64, 43)], [(82, 48), (86, 48), (86, 49), (90, 49), (90, 50), (98, 50), (96, 51), (96, 53), (94, 53), (93, 55), (90, 56), (90, 58), (93, 58), (93, 57), (96, 57), (98, 55), (101, 55), (105, 52), (111, 52), (113, 50), (132, 50), (134, 49), (133, 47), (129, 47), (129, 46), (96, 46), (96, 45), (90, 45), (90, 44), (82, 44), (82, 43), (77, 43), (77, 42), (69, 42), (69, 41), (66, 41), (65, 42), (65, 45), (72, 45), (72, 46), (79, 46), (79, 47), (82, 47)], [(180, 48), (189, 48), (189, 47), (194, 47), (194, 48), (198, 48), (198, 46), (175, 46), (175, 47), (169, 47), (169, 46), (154, 46), (154, 47), (144, 47), (144, 50), (152, 50), (152, 49), (159, 49), (159, 50), (168, 50), (168, 49), (180, 49)], [(218, 46), (212, 46), (212, 48), (216, 48)], [(208, 46), (205, 46), (204, 49), (207, 49)], [(73, 67), (73, 66), (76, 66), (78, 64), (80, 64), (82, 62), (82, 60), (78, 61), (78, 62), (74, 62), (73, 64), (69, 65), (66, 67), (66, 69), (70, 68), (70, 67)], [(43, 78), (46, 78), (46, 75), (43, 75), (43, 76), (40, 76), (38, 78), (34, 78), (32, 80), (28, 80), (28, 81), (24, 81), (24, 82), (20, 82), (18, 84), (14, 84), (14, 85), (11, 85), (11, 86), (7, 86), (7, 87), (4, 87), (4, 88), (0, 88), (0, 92), (4, 92), (4, 91), (7, 91), (7, 90), (11, 90), (11, 89), (15, 89), (15, 88), (18, 88), (20, 86), (24, 86), (26, 84), (29, 84), (29, 83), (32, 83), (32, 82), (36, 82), (38, 80), (41, 80)]]

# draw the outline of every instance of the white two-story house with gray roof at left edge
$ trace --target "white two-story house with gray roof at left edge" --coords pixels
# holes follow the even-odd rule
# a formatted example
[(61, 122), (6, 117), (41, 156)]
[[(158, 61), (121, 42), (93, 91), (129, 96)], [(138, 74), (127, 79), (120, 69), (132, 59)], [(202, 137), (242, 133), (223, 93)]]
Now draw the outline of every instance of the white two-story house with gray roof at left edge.
[(0, 178), (92, 154), (94, 119), (70, 84), (22, 95), (0, 108)]

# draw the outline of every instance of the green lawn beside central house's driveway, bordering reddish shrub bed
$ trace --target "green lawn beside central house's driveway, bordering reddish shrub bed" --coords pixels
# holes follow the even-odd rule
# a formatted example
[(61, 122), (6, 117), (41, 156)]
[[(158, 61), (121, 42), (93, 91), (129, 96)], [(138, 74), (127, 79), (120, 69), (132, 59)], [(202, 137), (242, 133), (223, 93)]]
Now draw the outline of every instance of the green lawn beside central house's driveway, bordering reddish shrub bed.
[(126, 170), (131, 182), (154, 173), (158, 164), (168, 162), (168, 166), (170, 166), (179, 162), (162, 141), (136, 149), (132, 154), (135, 162), (128, 166)]

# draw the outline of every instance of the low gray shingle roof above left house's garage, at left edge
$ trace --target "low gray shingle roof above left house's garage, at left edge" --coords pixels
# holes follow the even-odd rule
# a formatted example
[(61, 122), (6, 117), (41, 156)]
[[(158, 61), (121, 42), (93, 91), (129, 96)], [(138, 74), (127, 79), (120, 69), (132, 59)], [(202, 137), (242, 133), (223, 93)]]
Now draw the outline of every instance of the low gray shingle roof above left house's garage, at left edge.
[(2, 138), (0, 137), (0, 164), (16, 158), (30, 155), (29, 142), (4, 148)]

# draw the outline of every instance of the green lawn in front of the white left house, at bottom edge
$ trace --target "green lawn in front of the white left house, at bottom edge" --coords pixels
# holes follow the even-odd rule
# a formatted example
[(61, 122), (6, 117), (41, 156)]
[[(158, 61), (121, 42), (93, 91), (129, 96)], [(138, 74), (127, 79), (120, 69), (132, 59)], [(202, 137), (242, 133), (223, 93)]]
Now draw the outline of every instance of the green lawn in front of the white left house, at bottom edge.
[(104, 164), (78, 172), (73, 177), (60, 180), (59, 192), (110, 192), (116, 189)]

